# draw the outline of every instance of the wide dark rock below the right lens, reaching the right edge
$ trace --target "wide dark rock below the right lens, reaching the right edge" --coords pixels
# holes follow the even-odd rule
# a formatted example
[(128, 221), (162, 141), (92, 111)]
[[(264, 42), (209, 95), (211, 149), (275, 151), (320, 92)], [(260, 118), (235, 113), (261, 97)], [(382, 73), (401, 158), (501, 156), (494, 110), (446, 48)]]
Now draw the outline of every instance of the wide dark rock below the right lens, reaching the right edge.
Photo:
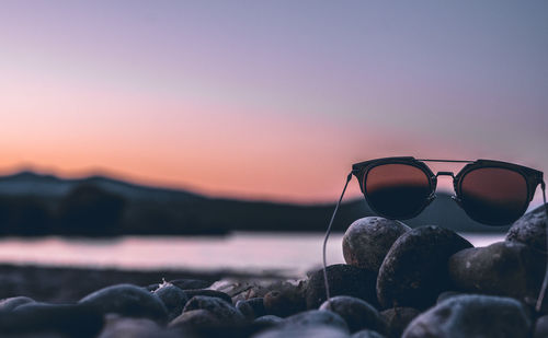
[(506, 295), (535, 304), (546, 268), (541, 253), (517, 242), (468, 248), (449, 258), (458, 290)]

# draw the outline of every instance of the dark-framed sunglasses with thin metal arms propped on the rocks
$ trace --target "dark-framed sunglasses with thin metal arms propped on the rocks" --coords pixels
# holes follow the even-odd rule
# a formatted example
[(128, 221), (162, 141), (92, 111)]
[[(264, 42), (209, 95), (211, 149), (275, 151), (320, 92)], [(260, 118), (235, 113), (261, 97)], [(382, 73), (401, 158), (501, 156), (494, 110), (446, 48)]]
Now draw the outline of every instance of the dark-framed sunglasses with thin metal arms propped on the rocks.
[[(456, 175), (453, 172), (434, 174), (425, 162), (466, 163), (466, 165)], [(530, 167), (492, 160), (416, 160), (411, 156), (355, 163), (346, 176), (346, 183), (323, 240), (323, 279), (328, 300), (330, 290), (326, 247), (336, 211), (352, 176), (357, 178), (372, 210), (387, 219), (407, 220), (418, 215), (435, 199), (437, 176), (452, 176), (455, 189), (453, 199), (468, 217), (479, 223), (498, 226), (514, 222), (527, 210), (538, 185), (543, 190), (548, 220), (543, 172)], [(537, 299), (537, 311), (543, 304), (547, 285), (548, 268)]]

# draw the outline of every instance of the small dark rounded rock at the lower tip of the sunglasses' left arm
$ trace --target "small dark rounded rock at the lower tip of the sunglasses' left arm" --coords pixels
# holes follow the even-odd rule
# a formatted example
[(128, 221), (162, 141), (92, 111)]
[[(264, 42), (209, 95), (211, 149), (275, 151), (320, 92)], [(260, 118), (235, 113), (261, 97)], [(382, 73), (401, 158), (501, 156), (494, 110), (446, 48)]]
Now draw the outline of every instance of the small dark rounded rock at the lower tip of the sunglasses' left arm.
[(329, 310), (340, 315), (349, 325), (351, 333), (362, 329), (386, 331), (386, 324), (378, 311), (367, 302), (349, 295), (333, 296), (320, 310)]

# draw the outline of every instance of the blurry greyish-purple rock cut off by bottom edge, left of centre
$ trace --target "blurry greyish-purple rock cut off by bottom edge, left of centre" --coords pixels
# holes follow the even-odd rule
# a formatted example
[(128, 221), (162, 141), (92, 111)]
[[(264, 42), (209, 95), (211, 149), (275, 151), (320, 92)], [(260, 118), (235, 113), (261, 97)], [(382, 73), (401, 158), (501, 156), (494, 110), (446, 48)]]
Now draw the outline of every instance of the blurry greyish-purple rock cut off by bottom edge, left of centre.
[(99, 338), (175, 338), (174, 333), (162, 329), (158, 324), (146, 318), (125, 318), (107, 316), (106, 325)]

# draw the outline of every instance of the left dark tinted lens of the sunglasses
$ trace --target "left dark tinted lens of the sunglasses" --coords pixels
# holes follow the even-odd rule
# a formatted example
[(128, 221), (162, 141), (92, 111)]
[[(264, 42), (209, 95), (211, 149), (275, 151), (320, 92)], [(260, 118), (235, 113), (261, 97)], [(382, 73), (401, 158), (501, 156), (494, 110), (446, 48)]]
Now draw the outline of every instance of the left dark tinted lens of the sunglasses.
[(431, 195), (430, 180), (422, 170), (408, 164), (384, 164), (372, 168), (364, 179), (367, 201), (391, 219), (415, 215)]

